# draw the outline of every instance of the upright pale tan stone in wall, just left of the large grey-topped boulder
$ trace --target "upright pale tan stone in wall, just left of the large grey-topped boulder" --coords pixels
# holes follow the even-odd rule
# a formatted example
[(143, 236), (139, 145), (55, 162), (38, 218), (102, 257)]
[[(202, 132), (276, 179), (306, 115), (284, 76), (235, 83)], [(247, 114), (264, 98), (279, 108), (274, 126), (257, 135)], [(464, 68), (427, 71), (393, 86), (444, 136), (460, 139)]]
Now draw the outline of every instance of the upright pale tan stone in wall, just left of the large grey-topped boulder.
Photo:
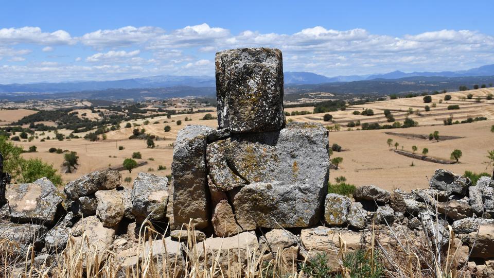
[(100, 190), (94, 194), (98, 206), (96, 215), (104, 227), (115, 227), (123, 218), (123, 199), (117, 190)]

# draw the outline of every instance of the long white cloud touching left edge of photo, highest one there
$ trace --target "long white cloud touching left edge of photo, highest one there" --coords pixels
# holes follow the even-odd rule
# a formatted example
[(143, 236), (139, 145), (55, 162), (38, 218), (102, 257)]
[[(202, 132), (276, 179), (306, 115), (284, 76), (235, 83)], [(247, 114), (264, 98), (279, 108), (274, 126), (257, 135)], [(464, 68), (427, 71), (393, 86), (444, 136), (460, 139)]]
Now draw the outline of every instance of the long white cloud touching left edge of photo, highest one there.
[(40, 44), (63, 45), (74, 44), (70, 34), (64, 30), (43, 32), (40, 27), (2, 28), (0, 29), (0, 43), (2, 44)]

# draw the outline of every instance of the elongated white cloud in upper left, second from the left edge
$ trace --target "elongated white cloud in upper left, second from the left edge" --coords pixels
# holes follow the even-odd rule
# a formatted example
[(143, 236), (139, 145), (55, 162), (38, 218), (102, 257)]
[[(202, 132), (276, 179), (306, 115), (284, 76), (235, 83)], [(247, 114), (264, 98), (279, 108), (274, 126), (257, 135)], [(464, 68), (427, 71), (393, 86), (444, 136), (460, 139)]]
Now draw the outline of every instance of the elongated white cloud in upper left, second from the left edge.
[(88, 46), (97, 48), (101, 47), (120, 47), (134, 44), (145, 44), (151, 38), (154, 38), (165, 31), (158, 27), (145, 26), (134, 27), (126, 26), (113, 30), (97, 30), (86, 33), (78, 40)]

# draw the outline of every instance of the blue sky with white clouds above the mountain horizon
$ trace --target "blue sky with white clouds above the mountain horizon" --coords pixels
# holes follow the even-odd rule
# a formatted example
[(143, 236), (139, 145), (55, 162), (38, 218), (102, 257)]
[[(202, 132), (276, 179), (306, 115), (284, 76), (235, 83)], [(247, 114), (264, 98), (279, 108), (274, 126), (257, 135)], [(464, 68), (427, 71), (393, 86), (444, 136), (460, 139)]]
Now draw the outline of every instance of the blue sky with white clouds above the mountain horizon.
[(494, 63), (489, 1), (9, 1), (0, 83), (214, 75), (215, 52), (267, 46), (326, 76)]

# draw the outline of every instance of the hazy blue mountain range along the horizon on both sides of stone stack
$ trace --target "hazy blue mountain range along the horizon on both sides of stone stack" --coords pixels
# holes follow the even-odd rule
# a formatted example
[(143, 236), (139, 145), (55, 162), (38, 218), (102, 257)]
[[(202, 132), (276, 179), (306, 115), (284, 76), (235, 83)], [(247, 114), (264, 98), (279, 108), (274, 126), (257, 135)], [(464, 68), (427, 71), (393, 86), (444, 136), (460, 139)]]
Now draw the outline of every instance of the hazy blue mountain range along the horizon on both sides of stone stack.
[[(349, 82), (349, 84), (344, 87), (346, 90), (357, 88), (361, 83), (354, 83), (354, 81), (372, 81), (372, 80), (397, 80), (413, 78), (414, 81), (423, 79), (428, 82), (433, 81), (430, 78), (434, 78), (434, 82), (439, 82), (440, 80), (447, 79), (450, 84), (457, 82), (468, 82), (464, 77), (485, 77), (494, 76), (494, 64), (484, 65), (481, 67), (471, 68), (466, 71), (456, 71), (456, 72), (413, 72), (404, 73), (400, 71), (395, 71), (386, 74), (375, 74), (375, 75), (352, 75), (352, 76), (336, 76), (327, 77), (319, 74), (308, 73), (308, 72), (285, 72), (285, 88), (287, 93), (290, 93), (289, 88), (297, 88), (299, 90), (304, 88), (304, 85), (311, 85), (309, 88), (327, 88), (325, 91), (332, 92), (330, 88), (335, 86), (341, 87), (342, 82)], [(429, 78), (429, 79), (428, 79)], [(450, 80), (451, 78), (456, 80)], [(472, 78), (470, 81), (475, 82)], [(491, 80), (491, 79), (489, 79)], [(468, 85), (468, 83), (466, 83)], [(97, 91), (118, 91), (118, 90), (130, 90), (129, 92), (141, 91), (144, 92), (147, 89), (160, 88), (160, 93), (154, 92), (154, 94), (178, 94), (184, 95), (193, 91), (201, 92), (201, 94), (209, 94), (215, 91), (216, 80), (211, 76), (152, 76), (145, 78), (133, 78), (133, 79), (122, 79), (113, 81), (74, 81), (74, 82), (61, 82), (61, 83), (26, 83), (26, 84), (0, 84), (0, 99), (2, 98), (41, 98), (55, 94), (59, 95), (65, 93), (77, 93), (79, 95), (91, 92), (93, 95)], [(314, 86), (318, 85), (318, 86)], [(195, 89), (196, 88), (196, 89)], [(288, 90), (287, 90), (288, 89)], [(452, 89), (452, 88), (445, 88)], [(181, 93), (178, 93), (178, 92)], [(361, 90), (356, 90), (361, 91)], [(166, 93), (165, 93), (166, 92)], [(372, 90), (371, 92), (376, 92)], [(379, 92), (378, 93), (382, 93)], [(193, 95), (193, 93), (192, 93)], [(61, 97), (61, 96), (60, 96)], [(172, 97), (172, 96), (170, 96)], [(56, 98), (56, 96), (49, 96), (49, 98)]]

